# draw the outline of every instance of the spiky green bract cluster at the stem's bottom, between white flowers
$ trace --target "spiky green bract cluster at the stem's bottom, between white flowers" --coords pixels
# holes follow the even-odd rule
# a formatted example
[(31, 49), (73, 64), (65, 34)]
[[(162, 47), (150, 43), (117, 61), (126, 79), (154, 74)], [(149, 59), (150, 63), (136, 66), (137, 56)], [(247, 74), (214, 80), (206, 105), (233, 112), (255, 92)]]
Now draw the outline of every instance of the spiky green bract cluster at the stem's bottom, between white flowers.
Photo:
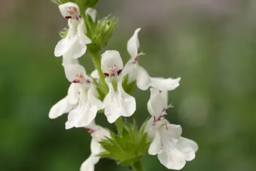
[(116, 121), (116, 126), (118, 134), (110, 131), (111, 138), (100, 142), (105, 151), (99, 156), (113, 159), (119, 165), (133, 165), (140, 161), (151, 143), (147, 140), (147, 133), (145, 132), (146, 122), (138, 130), (135, 121), (131, 125), (131, 123), (123, 122), (119, 118)]

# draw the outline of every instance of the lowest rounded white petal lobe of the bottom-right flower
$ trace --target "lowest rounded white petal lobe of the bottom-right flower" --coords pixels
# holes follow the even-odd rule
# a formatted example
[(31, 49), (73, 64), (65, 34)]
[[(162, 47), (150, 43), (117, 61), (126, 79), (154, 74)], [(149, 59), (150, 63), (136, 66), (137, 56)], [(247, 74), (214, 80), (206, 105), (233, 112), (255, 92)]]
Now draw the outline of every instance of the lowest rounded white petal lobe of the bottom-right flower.
[(180, 170), (184, 168), (186, 164), (186, 160), (181, 153), (172, 148), (162, 150), (157, 157), (160, 163), (168, 169)]

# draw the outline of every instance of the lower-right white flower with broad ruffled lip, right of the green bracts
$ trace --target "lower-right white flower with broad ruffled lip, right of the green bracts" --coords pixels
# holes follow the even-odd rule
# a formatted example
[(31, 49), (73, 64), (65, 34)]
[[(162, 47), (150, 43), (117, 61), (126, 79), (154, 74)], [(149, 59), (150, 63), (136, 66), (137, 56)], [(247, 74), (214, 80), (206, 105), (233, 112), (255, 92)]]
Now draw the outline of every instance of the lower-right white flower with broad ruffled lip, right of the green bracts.
[(198, 149), (193, 140), (181, 137), (180, 125), (172, 125), (164, 117), (167, 115), (168, 94), (167, 91), (159, 92), (151, 88), (148, 112), (151, 114), (146, 125), (149, 138), (153, 139), (148, 153), (157, 155), (161, 164), (168, 169), (180, 170), (195, 157)]

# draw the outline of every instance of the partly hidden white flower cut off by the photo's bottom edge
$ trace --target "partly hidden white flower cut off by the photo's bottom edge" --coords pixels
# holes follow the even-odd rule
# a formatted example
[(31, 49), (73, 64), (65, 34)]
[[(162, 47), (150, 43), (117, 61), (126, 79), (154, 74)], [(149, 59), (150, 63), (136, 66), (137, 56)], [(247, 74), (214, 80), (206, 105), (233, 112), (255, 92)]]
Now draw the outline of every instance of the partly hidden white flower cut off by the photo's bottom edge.
[(104, 151), (104, 149), (101, 148), (99, 141), (105, 139), (105, 136), (110, 138), (110, 134), (108, 130), (95, 125), (94, 121), (87, 127), (84, 127), (84, 129), (92, 135), (91, 155), (83, 162), (80, 167), (80, 171), (93, 171), (95, 164), (100, 160), (100, 157), (96, 155)]

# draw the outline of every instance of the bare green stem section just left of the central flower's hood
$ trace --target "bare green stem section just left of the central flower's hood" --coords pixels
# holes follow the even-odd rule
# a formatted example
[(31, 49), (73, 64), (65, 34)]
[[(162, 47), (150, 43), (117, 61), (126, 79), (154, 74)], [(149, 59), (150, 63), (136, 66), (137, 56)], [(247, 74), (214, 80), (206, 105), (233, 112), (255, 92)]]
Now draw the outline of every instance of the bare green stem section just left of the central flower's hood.
[(103, 71), (101, 70), (101, 67), (100, 67), (100, 54), (99, 53), (91, 54), (91, 57), (92, 57), (94, 66), (96, 67), (97, 71), (99, 72), (100, 85), (103, 88), (103, 91), (106, 95), (108, 93), (108, 85), (106, 85), (106, 83), (105, 83), (105, 75), (103, 74)]

